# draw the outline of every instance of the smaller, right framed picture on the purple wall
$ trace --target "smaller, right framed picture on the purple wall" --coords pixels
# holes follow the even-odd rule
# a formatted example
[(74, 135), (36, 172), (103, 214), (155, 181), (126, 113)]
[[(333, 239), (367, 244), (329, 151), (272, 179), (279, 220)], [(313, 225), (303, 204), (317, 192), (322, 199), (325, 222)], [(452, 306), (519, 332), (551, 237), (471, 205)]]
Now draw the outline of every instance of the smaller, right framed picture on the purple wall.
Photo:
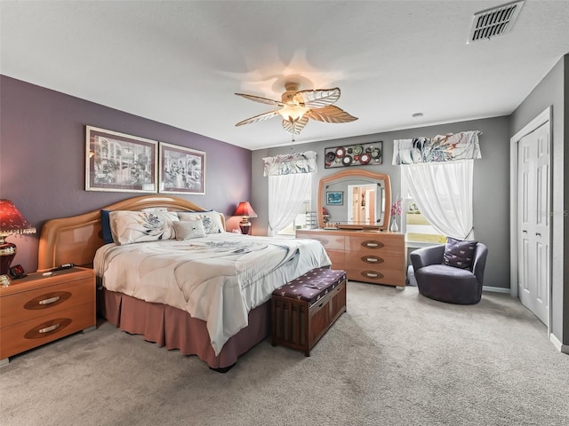
[(160, 142), (160, 193), (205, 193), (205, 153)]

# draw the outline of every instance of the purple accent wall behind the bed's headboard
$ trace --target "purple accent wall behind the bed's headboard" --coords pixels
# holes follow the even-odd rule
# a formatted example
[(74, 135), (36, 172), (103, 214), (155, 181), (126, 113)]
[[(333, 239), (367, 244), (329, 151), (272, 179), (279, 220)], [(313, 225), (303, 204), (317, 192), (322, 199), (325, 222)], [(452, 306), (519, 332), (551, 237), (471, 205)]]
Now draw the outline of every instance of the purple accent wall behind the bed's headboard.
[(206, 153), (205, 194), (174, 194), (228, 217), (239, 201), (251, 199), (248, 149), (127, 114), (84, 99), (0, 75), (0, 198), (16, 203), (35, 235), (12, 235), (18, 246), (12, 264), (37, 269), (44, 221), (86, 213), (142, 193), (85, 191), (85, 126), (187, 146)]

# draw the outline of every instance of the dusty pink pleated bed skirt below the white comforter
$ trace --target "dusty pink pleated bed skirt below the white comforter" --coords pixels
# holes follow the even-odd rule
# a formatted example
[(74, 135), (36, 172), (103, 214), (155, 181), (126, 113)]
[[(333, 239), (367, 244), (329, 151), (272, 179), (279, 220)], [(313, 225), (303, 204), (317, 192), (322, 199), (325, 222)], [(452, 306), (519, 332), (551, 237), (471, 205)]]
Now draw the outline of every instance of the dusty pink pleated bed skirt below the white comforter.
[(167, 349), (197, 355), (208, 366), (224, 369), (270, 333), (270, 301), (249, 312), (249, 325), (232, 336), (216, 357), (205, 321), (165, 304), (153, 304), (121, 293), (100, 290), (100, 313), (111, 324)]

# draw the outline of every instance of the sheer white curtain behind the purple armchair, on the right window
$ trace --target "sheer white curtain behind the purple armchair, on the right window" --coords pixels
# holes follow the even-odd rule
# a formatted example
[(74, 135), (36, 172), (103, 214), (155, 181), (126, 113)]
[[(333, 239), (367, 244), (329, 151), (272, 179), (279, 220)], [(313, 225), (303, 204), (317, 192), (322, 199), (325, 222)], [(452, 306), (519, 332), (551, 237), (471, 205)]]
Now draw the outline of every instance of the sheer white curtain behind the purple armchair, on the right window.
[(402, 165), (401, 169), (413, 201), (438, 233), (474, 240), (474, 160), (422, 162)]

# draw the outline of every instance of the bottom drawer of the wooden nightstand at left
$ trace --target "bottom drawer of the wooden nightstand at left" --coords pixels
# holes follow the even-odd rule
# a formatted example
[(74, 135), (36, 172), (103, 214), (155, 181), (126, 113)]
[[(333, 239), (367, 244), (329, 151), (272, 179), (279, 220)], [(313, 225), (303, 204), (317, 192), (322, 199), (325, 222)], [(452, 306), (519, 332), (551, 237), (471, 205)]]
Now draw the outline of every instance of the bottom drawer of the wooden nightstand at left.
[[(45, 312), (44, 312), (45, 313)], [(95, 324), (94, 304), (78, 304), (0, 329), (0, 359), (52, 342)]]

